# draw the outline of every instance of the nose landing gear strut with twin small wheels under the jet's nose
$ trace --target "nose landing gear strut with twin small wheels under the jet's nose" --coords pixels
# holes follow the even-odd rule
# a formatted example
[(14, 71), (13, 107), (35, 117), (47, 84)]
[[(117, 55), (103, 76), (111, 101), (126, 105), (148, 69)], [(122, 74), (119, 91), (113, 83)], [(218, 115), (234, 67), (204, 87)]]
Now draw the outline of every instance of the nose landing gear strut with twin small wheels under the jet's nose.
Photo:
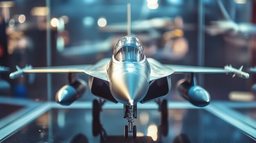
[(137, 104), (124, 105), (124, 118), (128, 120), (128, 125), (124, 126), (124, 137), (128, 138), (128, 132), (132, 132), (133, 138), (137, 137), (137, 127), (133, 125), (134, 119), (137, 118)]

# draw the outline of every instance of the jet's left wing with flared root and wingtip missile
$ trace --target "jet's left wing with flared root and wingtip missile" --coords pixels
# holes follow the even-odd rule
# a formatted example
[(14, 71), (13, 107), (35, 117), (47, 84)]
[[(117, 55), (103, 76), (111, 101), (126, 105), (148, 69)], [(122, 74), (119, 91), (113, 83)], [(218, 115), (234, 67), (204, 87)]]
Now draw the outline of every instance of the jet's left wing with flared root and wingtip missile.
[(26, 66), (25, 68), (19, 68), (16, 66), (17, 71), (10, 74), (11, 79), (23, 77), (26, 73), (85, 73), (99, 79), (108, 81), (107, 77), (107, 65), (110, 59), (101, 59), (96, 64), (88, 65), (74, 65), (74, 66), (52, 66), (52, 67), (40, 67), (33, 68), (32, 66)]

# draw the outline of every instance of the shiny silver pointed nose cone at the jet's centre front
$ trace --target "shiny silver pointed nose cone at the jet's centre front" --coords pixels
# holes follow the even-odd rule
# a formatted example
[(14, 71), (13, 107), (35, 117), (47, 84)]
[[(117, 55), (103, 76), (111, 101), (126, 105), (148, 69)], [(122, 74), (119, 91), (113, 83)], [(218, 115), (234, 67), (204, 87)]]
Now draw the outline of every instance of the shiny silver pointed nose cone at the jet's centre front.
[(145, 97), (148, 92), (148, 82), (138, 73), (124, 72), (110, 81), (110, 91), (120, 103), (133, 105)]

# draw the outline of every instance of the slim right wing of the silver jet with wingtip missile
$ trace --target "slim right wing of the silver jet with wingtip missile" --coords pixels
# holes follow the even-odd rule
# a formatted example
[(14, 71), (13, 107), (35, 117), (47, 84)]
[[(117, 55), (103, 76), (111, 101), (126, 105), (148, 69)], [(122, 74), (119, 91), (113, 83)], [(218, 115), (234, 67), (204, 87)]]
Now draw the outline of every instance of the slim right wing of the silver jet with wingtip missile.
[(171, 65), (165, 64), (168, 68), (171, 68), (174, 71), (174, 74), (186, 74), (186, 73), (201, 73), (201, 74), (212, 74), (212, 73), (226, 73), (233, 74), (233, 77), (236, 75), (242, 78), (249, 78), (249, 74), (242, 71), (243, 66), (239, 69), (227, 65), (224, 68), (210, 68), (210, 67), (200, 67), (200, 66), (183, 66), (183, 65)]

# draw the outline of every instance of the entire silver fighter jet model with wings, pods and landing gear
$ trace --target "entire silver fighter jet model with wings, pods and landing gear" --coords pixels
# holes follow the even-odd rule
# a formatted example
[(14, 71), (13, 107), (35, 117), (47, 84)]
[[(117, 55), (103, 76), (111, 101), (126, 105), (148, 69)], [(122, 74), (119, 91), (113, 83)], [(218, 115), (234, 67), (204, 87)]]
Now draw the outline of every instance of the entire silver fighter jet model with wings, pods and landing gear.
[[(129, 15), (130, 12), (128, 12)], [(130, 23), (128, 16), (128, 23)], [(128, 27), (130, 24), (128, 24)], [(128, 132), (136, 138), (137, 128), (132, 125), (137, 118), (137, 103), (156, 100), (162, 118), (167, 118), (167, 102), (159, 100), (168, 94), (171, 88), (171, 74), (186, 74), (179, 81), (177, 88), (182, 97), (195, 106), (204, 107), (210, 103), (207, 90), (198, 86), (195, 79), (197, 73), (235, 73), (239, 77), (249, 78), (249, 74), (234, 68), (206, 68), (182, 65), (163, 65), (155, 59), (146, 58), (144, 48), (136, 37), (122, 37), (114, 47), (112, 58), (101, 59), (93, 65), (57, 66), (32, 68), (27, 66), (10, 74), (11, 79), (26, 73), (68, 73), (67, 85), (56, 93), (56, 101), (62, 105), (70, 105), (85, 91), (85, 83), (76, 79), (74, 73), (90, 75), (89, 87), (93, 95), (101, 98), (93, 102), (93, 117), (99, 118), (99, 112), (104, 101), (124, 104), (125, 137)]]

